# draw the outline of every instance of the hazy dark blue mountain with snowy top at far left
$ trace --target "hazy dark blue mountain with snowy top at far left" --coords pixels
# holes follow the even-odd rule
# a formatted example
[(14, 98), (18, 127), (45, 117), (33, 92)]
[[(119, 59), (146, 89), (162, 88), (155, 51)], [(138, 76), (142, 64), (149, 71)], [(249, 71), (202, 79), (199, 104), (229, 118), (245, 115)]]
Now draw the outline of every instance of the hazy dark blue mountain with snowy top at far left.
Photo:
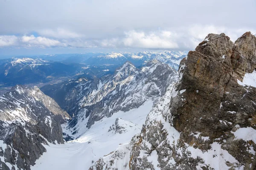
[[(1, 62), (0, 62), (1, 63)], [(0, 65), (0, 85), (47, 82), (59, 77), (73, 76), (81, 71), (81, 66), (50, 62), (40, 58), (12, 58)]]

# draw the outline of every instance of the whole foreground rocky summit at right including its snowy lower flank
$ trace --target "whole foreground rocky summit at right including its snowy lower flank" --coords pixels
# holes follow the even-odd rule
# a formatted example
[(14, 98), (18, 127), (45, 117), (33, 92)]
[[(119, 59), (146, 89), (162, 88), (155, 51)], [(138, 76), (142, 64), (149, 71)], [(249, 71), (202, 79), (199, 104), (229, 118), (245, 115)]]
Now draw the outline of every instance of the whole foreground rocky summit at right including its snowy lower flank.
[(180, 62), (180, 80), (141, 133), (90, 170), (256, 169), (256, 37), (208, 34)]

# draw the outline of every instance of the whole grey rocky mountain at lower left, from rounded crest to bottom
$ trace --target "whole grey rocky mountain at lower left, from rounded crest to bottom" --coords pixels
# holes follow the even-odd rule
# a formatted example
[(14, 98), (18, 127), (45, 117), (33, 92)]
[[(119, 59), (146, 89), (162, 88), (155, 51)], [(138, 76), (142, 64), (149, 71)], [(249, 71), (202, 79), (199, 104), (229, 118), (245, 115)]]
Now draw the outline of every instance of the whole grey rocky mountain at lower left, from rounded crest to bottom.
[(37, 87), (16, 85), (0, 96), (0, 119), (3, 170), (29, 170), (46, 152), (43, 144), (64, 143), (61, 124), (69, 116)]

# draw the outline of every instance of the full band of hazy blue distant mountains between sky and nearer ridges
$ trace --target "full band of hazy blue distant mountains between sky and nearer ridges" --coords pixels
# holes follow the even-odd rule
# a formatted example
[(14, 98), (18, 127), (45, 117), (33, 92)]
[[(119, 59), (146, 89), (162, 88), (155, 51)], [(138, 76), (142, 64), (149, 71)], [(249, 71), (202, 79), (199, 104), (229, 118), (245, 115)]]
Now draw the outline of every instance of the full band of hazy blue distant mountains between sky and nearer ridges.
[(0, 60), (0, 86), (56, 83), (58, 80), (64, 81), (77, 77), (99, 78), (113, 74), (116, 68), (127, 61), (140, 67), (152, 59), (157, 59), (177, 70), (180, 60), (184, 57), (186, 57), (186, 51), (47, 54), (31, 58), (13, 57)]

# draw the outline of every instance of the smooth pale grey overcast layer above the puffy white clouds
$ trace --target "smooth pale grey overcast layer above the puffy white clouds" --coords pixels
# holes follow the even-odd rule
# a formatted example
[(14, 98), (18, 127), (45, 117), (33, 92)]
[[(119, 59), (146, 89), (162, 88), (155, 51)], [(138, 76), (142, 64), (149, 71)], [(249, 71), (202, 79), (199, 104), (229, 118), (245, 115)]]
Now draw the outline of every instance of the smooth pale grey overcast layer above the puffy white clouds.
[(255, 0), (0, 0), (0, 34), (37, 31), (52, 38), (77, 33), (106, 38), (156, 27), (189, 29), (193, 24), (256, 28), (255, 7)]

